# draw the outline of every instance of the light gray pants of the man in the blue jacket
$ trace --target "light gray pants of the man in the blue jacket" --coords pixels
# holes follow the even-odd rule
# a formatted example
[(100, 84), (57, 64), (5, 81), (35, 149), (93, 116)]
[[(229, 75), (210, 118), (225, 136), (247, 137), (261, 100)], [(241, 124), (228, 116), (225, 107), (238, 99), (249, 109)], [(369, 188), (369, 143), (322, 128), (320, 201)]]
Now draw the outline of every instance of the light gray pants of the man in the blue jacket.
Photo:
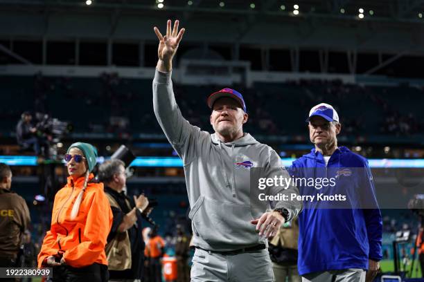
[(349, 268), (308, 273), (302, 276), (303, 282), (365, 282), (365, 270)]

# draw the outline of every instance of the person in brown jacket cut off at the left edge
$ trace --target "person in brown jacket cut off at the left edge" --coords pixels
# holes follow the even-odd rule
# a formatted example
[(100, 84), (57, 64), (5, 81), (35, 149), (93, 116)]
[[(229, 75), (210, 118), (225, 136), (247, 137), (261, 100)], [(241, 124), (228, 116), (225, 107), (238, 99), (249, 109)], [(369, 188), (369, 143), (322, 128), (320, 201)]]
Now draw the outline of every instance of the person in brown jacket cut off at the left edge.
[(0, 267), (20, 267), (21, 238), (30, 224), (24, 198), (10, 191), (12, 171), (0, 163)]

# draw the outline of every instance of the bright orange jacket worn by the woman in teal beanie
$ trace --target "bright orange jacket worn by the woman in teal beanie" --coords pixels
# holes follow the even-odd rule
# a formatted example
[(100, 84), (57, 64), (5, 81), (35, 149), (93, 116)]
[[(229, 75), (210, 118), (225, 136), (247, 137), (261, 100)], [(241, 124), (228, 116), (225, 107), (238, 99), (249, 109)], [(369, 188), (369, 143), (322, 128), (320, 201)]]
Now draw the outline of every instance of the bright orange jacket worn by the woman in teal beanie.
[[(90, 174), (89, 180), (93, 177)], [(105, 245), (112, 227), (112, 210), (103, 191), (103, 183), (88, 183), (78, 215), (71, 220), (73, 203), (84, 180), (85, 177), (80, 177), (74, 182), (69, 177), (67, 185), (56, 194), (51, 228), (38, 254), (38, 267), (44, 266), (47, 256), (58, 253), (62, 253), (65, 263), (72, 267), (93, 263), (107, 265)]]

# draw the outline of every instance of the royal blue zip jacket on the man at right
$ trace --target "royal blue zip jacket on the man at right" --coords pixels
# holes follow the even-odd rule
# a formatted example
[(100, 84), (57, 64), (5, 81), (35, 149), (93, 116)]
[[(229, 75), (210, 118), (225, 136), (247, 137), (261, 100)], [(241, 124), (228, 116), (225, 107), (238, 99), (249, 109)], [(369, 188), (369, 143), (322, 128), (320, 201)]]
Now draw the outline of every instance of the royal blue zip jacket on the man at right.
[[(297, 178), (335, 179), (333, 187), (299, 185), (301, 195), (346, 195), (343, 209), (323, 209), (328, 207), (323, 202), (304, 201), (299, 214), (299, 274), (368, 269), (369, 259), (382, 259), (382, 218), (366, 158), (339, 147), (326, 167), (322, 154), (312, 149), (292, 163), (289, 173)], [(367, 209), (361, 208), (364, 205)]]

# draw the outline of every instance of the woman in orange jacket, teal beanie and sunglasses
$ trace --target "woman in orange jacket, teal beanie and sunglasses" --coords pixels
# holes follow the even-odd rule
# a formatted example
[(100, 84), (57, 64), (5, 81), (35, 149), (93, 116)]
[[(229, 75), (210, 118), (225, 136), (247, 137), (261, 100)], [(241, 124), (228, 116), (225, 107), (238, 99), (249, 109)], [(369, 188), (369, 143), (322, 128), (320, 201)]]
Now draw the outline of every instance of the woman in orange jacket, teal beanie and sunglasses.
[(51, 229), (38, 254), (38, 267), (54, 267), (53, 281), (108, 280), (105, 245), (112, 210), (103, 183), (91, 171), (97, 151), (91, 144), (71, 144), (65, 161), (67, 185), (55, 195)]

